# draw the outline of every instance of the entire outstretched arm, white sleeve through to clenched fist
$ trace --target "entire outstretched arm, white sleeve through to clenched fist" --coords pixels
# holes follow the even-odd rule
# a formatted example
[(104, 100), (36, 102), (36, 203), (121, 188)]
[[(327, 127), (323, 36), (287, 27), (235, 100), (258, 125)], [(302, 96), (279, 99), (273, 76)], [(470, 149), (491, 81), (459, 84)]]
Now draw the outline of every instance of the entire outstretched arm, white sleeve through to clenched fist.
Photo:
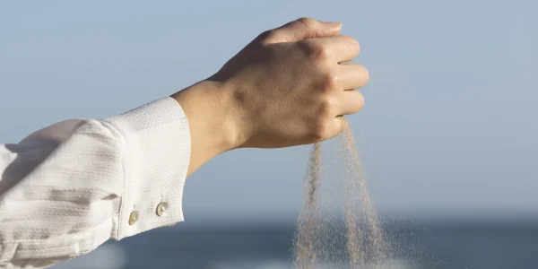
[(342, 132), (341, 116), (362, 107), (352, 90), (368, 72), (340, 65), (359, 45), (339, 31), (339, 23), (290, 22), (169, 98), (0, 146), (0, 267), (52, 265), (183, 221), (187, 175), (222, 152)]

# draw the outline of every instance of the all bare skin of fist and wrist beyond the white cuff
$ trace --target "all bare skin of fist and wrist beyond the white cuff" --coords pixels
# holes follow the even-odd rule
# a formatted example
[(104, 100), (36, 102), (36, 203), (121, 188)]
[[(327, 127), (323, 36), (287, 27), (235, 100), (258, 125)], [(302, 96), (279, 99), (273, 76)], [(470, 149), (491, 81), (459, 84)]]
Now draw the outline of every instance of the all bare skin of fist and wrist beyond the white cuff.
[(343, 115), (364, 99), (354, 89), (369, 80), (357, 40), (342, 24), (301, 18), (267, 30), (208, 79), (171, 95), (191, 132), (192, 174), (238, 148), (317, 143), (343, 131)]

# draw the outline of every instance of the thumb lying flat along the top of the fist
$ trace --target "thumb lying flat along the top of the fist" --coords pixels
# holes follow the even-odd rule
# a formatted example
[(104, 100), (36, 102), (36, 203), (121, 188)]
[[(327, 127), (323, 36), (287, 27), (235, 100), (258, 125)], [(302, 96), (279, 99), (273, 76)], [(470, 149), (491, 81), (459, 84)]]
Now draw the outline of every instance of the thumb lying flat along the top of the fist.
[(310, 18), (300, 18), (272, 30), (271, 35), (265, 41), (277, 43), (325, 38), (337, 35), (341, 29), (342, 23), (340, 22), (320, 22)]

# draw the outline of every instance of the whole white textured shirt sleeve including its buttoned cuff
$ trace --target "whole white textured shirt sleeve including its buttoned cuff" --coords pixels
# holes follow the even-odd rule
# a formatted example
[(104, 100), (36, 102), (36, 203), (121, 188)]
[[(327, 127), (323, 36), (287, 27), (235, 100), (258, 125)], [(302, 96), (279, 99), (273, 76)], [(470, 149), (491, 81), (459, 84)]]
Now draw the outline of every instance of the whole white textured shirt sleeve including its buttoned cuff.
[(47, 267), (183, 221), (190, 150), (171, 98), (0, 144), (0, 268)]

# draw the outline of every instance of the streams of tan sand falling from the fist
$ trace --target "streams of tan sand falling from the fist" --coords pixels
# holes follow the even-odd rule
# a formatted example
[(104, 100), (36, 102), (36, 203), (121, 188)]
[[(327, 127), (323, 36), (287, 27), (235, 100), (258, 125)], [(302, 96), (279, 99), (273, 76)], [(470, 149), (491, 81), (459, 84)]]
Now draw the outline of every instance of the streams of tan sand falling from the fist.
[[(341, 201), (345, 227), (343, 230), (335, 228), (334, 223), (326, 221), (327, 218), (319, 209), (322, 149), (321, 144), (316, 143), (308, 162), (305, 202), (297, 221), (294, 245), (294, 265), (297, 269), (318, 268), (322, 257), (325, 263), (339, 263), (352, 269), (381, 268), (389, 264), (389, 247), (369, 197), (360, 154), (347, 120), (342, 119), (345, 128), (338, 137), (339, 147), (335, 149), (334, 157), (336, 169), (343, 173), (343, 187), (339, 194), (342, 199), (331, 199)], [(334, 237), (341, 237), (345, 244), (334, 243)], [(327, 256), (333, 257), (333, 261), (325, 260)]]

